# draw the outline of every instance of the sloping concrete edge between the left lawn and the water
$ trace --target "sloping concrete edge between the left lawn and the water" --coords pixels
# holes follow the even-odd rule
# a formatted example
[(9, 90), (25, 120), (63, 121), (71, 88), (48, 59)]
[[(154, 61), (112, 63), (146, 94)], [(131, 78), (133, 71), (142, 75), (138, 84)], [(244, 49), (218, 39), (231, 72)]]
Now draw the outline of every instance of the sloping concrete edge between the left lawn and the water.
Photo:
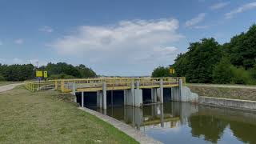
[(143, 134), (141, 131), (135, 130), (134, 127), (127, 125), (124, 122), (118, 121), (115, 118), (111, 118), (110, 116), (98, 113), (97, 111), (90, 110), (86, 107), (79, 107), (78, 109), (84, 110), (87, 113), (102, 119), (104, 122), (108, 122), (110, 125), (114, 126), (118, 130), (121, 130), (123, 133), (129, 135), (131, 138), (134, 138), (137, 142), (140, 142), (142, 144), (162, 144), (162, 142), (159, 142), (157, 140), (154, 140), (154, 138), (146, 136), (146, 134)]

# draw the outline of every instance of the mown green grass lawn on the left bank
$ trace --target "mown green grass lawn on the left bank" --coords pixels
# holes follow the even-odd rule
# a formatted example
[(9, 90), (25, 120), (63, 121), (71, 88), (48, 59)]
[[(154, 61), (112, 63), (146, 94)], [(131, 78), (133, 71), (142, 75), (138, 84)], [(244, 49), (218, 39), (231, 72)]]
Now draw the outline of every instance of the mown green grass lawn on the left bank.
[(72, 101), (23, 86), (0, 93), (0, 143), (138, 143)]

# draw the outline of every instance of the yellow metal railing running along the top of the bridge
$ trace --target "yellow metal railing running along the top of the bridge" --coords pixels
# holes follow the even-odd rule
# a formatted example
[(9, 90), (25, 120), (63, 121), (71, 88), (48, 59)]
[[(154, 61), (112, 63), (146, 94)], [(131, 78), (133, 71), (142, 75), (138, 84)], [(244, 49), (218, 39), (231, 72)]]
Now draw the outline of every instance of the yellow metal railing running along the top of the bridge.
[(56, 79), (42, 82), (25, 82), (26, 89), (31, 91), (38, 90), (61, 90), (62, 92), (71, 92), (75, 84), (77, 89), (101, 90), (102, 83), (106, 82), (107, 90), (127, 89), (131, 83), (138, 81), (140, 88), (150, 88), (159, 86), (162, 79), (163, 86), (178, 86), (179, 79), (186, 84), (184, 77), (168, 78), (84, 78), (84, 79)]

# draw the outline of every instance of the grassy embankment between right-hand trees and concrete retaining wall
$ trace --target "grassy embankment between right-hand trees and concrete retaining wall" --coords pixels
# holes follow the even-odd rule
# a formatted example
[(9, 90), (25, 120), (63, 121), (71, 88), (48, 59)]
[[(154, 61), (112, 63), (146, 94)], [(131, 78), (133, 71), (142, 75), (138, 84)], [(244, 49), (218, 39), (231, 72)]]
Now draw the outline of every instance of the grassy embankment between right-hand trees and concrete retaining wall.
[(186, 84), (199, 96), (256, 101), (256, 86)]

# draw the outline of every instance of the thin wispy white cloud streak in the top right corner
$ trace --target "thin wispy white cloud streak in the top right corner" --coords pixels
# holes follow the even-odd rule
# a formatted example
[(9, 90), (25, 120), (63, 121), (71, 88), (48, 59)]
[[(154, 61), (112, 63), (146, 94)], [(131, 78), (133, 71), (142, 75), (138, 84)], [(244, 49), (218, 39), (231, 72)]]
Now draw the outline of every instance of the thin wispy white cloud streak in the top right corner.
[(235, 10), (230, 11), (229, 13), (226, 13), (225, 17), (226, 18), (233, 18), (235, 14), (239, 14), (239, 13), (242, 13), (246, 10), (252, 10), (252, 9), (255, 9), (255, 8), (256, 8), (256, 2), (250, 2), (250, 3), (247, 3), (245, 5), (242, 5), (242, 6), (238, 7)]

